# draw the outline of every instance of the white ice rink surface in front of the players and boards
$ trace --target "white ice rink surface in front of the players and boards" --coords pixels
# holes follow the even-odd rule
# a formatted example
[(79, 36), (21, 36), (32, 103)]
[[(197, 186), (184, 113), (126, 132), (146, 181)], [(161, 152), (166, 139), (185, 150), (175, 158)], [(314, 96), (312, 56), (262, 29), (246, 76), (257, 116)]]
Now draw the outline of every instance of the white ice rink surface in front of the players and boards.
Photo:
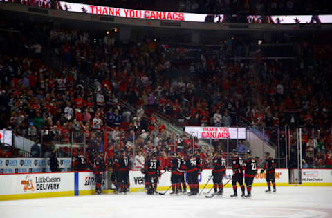
[(253, 187), (251, 199), (231, 198), (232, 189), (225, 188), (223, 197), (213, 198), (134, 192), (1, 201), (0, 217), (332, 217), (332, 187), (277, 187), (276, 194), (264, 190)]

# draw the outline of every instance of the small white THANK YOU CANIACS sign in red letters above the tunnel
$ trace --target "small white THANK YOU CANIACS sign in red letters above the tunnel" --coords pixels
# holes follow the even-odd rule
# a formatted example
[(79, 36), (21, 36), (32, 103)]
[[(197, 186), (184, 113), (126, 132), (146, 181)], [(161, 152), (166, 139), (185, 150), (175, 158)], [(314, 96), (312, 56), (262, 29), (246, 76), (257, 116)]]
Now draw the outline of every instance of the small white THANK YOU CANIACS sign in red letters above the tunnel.
[(186, 126), (185, 132), (199, 139), (246, 139), (246, 128)]

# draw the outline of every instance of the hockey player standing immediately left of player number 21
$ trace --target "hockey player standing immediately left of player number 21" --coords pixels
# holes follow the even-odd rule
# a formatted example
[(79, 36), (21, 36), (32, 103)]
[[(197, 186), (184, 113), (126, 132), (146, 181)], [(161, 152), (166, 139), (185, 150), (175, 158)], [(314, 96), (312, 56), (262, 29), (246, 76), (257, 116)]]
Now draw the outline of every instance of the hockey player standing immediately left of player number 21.
[(243, 160), (241, 157), (238, 157), (237, 150), (233, 149), (233, 159), (232, 159), (232, 170), (233, 170), (233, 176), (232, 176), (232, 186), (234, 190), (234, 194), (230, 195), (230, 197), (237, 197), (237, 183), (241, 186), (242, 195), (241, 197), (244, 197), (244, 186), (243, 186)]

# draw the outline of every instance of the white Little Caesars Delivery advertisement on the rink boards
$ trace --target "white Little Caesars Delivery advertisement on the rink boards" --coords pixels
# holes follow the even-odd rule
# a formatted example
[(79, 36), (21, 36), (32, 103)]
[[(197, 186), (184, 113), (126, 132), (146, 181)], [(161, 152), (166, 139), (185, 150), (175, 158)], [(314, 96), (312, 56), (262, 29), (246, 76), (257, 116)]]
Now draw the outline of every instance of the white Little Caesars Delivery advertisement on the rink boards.
[(73, 173), (0, 175), (0, 181), (0, 197), (1, 195), (74, 190)]

